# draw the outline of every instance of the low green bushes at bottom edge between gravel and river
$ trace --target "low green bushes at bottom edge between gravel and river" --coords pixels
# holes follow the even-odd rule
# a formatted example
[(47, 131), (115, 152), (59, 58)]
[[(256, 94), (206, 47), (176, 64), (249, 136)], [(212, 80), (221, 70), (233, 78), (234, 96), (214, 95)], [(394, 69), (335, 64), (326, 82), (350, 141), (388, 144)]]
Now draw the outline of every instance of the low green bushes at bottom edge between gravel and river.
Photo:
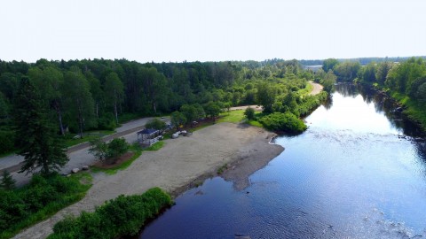
[(96, 208), (68, 217), (53, 227), (48, 238), (118, 238), (137, 235), (147, 220), (173, 204), (162, 189), (148, 189), (142, 195), (119, 196)]

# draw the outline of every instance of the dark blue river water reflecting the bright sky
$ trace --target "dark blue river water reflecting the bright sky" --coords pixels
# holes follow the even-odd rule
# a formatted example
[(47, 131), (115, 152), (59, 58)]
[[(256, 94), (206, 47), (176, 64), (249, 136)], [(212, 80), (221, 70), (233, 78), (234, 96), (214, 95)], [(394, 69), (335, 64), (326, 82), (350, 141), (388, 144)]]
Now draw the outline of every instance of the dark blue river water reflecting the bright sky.
[(285, 150), (247, 189), (205, 181), (139, 238), (425, 238), (426, 146), (393, 109), (337, 86), (304, 134), (276, 139)]

